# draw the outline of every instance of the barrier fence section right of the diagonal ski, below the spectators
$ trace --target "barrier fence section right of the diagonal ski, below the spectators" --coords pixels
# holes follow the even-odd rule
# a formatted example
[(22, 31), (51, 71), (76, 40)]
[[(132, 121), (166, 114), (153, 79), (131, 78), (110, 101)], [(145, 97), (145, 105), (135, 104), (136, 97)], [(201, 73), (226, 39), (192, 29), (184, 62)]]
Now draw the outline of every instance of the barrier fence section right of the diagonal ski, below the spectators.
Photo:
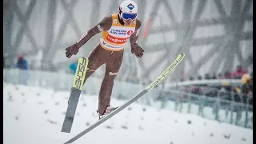
[[(250, 97), (246, 95), (231, 93), (229, 99), (223, 97), (226, 93), (218, 92), (217, 98), (211, 98), (178, 90), (155, 90), (154, 94), (155, 97), (149, 102), (151, 106), (253, 128), (253, 106), (250, 105)], [(238, 97), (240, 100), (237, 99)]]

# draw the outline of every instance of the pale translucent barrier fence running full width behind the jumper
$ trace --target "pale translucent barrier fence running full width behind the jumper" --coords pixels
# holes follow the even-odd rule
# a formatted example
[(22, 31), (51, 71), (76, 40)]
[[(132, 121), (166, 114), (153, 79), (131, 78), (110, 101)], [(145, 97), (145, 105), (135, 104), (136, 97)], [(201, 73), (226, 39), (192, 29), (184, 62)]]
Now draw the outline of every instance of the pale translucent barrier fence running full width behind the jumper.
[[(70, 90), (74, 75), (53, 73), (37, 70), (3, 70), (3, 81), (14, 85), (39, 86), (54, 90)], [(98, 94), (102, 78), (90, 77), (83, 88), (83, 94)], [(130, 82), (115, 81), (113, 96), (128, 99), (142, 90), (142, 86)], [(230, 99), (222, 97), (218, 92), (217, 98), (206, 95), (190, 94), (180, 90), (153, 89), (138, 102), (154, 106), (158, 109), (170, 109), (180, 113), (197, 114), (203, 118), (210, 118), (218, 122), (228, 122), (237, 126), (252, 129), (253, 106), (249, 104), (249, 97), (244, 101), (235, 101), (235, 94)]]

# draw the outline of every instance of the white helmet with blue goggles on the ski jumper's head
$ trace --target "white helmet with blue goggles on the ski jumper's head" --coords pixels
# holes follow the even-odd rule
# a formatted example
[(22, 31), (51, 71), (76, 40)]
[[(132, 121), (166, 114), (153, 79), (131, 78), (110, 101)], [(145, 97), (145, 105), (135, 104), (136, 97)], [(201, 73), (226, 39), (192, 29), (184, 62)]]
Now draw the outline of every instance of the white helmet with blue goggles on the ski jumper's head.
[(119, 14), (123, 19), (134, 20), (137, 18), (138, 6), (134, 1), (126, 0), (123, 1), (119, 6)]

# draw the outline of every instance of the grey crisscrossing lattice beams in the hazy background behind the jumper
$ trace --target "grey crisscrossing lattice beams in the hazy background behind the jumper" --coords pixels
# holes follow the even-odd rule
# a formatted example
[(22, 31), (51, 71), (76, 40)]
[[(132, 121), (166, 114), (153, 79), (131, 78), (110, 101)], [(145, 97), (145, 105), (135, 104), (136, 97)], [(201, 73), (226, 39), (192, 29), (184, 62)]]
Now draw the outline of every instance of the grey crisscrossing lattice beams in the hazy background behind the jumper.
[[(206, 9), (206, 3), (213, 1), (216, 9), (218, 10), (219, 18), (201, 18), (202, 14)], [(154, 73), (154, 70), (158, 68), (158, 64), (161, 62), (166, 62), (166, 65), (170, 64), (171, 59), (170, 55), (177, 55), (179, 52), (186, 53), (186, 62), (192, 66), (190, 71), (186, 73), (186, 78), (190, 75), (198, 73), (198, 70), (203, 66), (204, 63), (210, 60), (214, 54), (218, 56), (214, 59), (214, 62), (211, 66), (212, 71), (216, 70), (221, 62), (224, 62), (222, 72), (225, 70), (230, 70), (234, 66), (234, 57), (228, 55), (238, 55), (238, 61), (241, 64), (245, 63), (245, 59), (242, 58), (242, 52), (239, 48), (240, 42), (248, 41), (253, 39), (253, 31), (242, 31), (246, 22), (252, 22), (253, 15), (249, 14), (250, 5), (252, 5), (252, 0), (246, 0), (244, 5), (242, 5), (241, 0), (228, 0), (231, 1), (231, 13), (226, 14), (225, 6), (223, 6), (222, 0), (184, 0), (182, 7), (182, 21), (178, 22), (177, 15), (174, 14), (173, 9), (171, 8), (171, 0), (155, 0), (155, 1), (138, 1), (138, 18), (144, 22), (142, 25), (142, 30), (145, 29), (146, 14), (150, 14), (150, 19), (154, 21), (154, 18), (158, 17), (158, 10), (161, 6), (166, 8), (166, 18), (170, 19), (170, 26), (157, 26), (152, 27), (148, 30), (148, 37), (140, 38), (140, 45), (145, 48), (146, 53), (154, 53), (155, 51), (164, 51), (163, 55), (158, 55), (157, 60), (151, 63), (149, 67), (145, 66), (145, 60), (139, 60), (139, 67), (142, 68), (143, 73), (142, 77), (149, 77), (150, 74)], [(26, 50), (26, 55), (31, 56), (38, 53), (38, 50), (42, 50), (42, 62), (47, 66), (53, 65), (53, 59), (58, 56), (58, 50), (64, 50), (65, 46), (69, 45), (70, 42), (63, 42), (63, 37), (66, 35), (66, 28), (70, 26), (74, 31), (76, 38), (80, 38), (85, 31), (82, 31), (81, 26), (79, 27), (80, 18), (75, 17), (78, 12), (75, 10), (75, 7), (78, 5), (85, 5), (84, 10), (79, 10), (79, 13), (90, 13), (90, 18), (88, 22), (90, 26), (94, 26), (99, 21), (101, 17), (102, 7), (105, 3), (102, 0), (92, 0), (91, 6), (86, 6), (86, 2), (81, 0), (48, 0), (43, 1), (47, 3), (46, 7), (46, 19), (41, 19), (41, 21), (46, 22), (45, 34), (42, 35), (44, 45), (38, 44), (38, 38), (32, 34), (32, 31), (29, 26), (29, 21), (31, 15), (36, 11), (36, 6), (40, 5), (39, 0), (24, 0), (26, 5), (20, 6), (21, 1), (18, 0), (8, 0), (4, 1), (4, 6), (6, 7), (6, 13), (4, 14), (4, 52), (8, 54), (7, 60), (13, 61), (17, 57), (18, 51), (21, 48), (21, 42), (24, 37), (29, 39), (28, 45), (33, 48)], [(83, 2), (83, 3), (82, 3)], [(118, 0), (113, 0), (110, 2), (108, 10), (104, 11), (104, 14), (111, 14), (117, 12), (117, 7), (119, 5)], [(146, 10), (146, 6), (154, 2), (153, 8)], [(197, 4), (197, 5), (195, 5)], [(60, 25), (57, 30), (57, 14), (58, 7), (61, 7), (65, 12), (62, 14), (62, 20), (58, 21)], [(192, 17), (192, 10), (195, 10), (194, 17)], [(252, 8), (251, 8), (252, 9)], [(22, 11), (26, 10), (25, 13)], [(75, 13), (75, 14), (74, 14)], [(40, 21), (40, 18), (38, 18)], [(14, 29), (14, 26), (17, 25), (17, 22), (20, 24), (18, 29)], [(31, 22), (30, 22), (31, 25)], [(82, 23), (83, 25), (83, 23)], [(194, 38), (195, 30), (198, 27), (205, 26), (224, 26), (223, 35), (219, 36), (210, 36), (205, 38)], [(17, 27), (17, 26), (16, 26)], [(164, 42), (154, 45), (147, 45), (146, 41), (148, 40), (150, 34), (167, 34), (168, 32), (173, 31), (176, 35), (176, 41), (174, 42)], [(142, 33), (141, 33), (142, 34)], [(75, 39), (75, 38), (74, 38)], [(40, 41), (40, 40), (39, 40)], [(96, 41), (95, 41), (96, 42)], [(190, 54), (191, 46), (202, 46), (202, 45), (213, 45), (213, 48), (203, 55), (198, 62), (193, 62), (192, 57), (194, 55)], [(63, 53), (64, 54), (64, 53)], [(182, 73), (185, 67), (185, 63), (182, 62), (182, 66), (178, 66), (178, 69), (175, 70), (175, 73)], [(58, 63), (58, 67), (66, 66), (68, 62)], [(56, 65), (56, 64), (55, 64)], [(133, 70), (130, 70), (130, 73), (136, 73)], [(139, 77), (139, 76), (138, 76)], [(176, 77), (175, 78), (179, 78)], [(173, 78), (173, 79), (175, 79)]]

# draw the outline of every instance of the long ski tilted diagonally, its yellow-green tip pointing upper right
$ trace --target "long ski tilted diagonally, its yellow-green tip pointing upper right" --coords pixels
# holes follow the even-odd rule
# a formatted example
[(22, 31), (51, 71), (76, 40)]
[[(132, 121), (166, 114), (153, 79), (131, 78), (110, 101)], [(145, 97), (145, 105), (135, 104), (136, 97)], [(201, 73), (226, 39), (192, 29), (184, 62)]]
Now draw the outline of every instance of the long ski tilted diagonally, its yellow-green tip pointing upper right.
[(178, 54), (178, 57), (174, 60), (174, 62), (172, 62), (170, 64), (170, 66), (168, 66), (168, 68), (162, 72), (162, 74), (160, 74), (160, 76), (154, 80), (154, 82), (150, 83), (149, 86), (147, 86), (144, 90), (142, 90), (140, 93), (136, 94), (133, 98), (130, 98), (130, 100), (126, 103), (124, 103), (122, 106), (118, 107), (118, 109), (112, 111), (110, 114), (106, 115), (104, 118), (101, 118), (100, 120), (98, 120), (97, 122), (95, 122), (93, 125), (91, 125), (90, 127), (88, 127), (86, 130), (83, 130), (81, 133), (77, 134), (76, 136), (74, 136), (74, 138), (71, 138), (70, 140), (68, 140), (67, 142), (65, 142), (64, 144), (70, 144), (74, 141), (76, 141), (78, 138), (81, 138), (84, 134), (90, 132), (90, 130), (94, 130), (95, 127), (99, 126), (100, 124), (102, 124), (103, 122), (106, 122), (106, 120), (108, 120), (109, 118), (113, 117), (115, 114), (118, 114), (118, 112), (120, 112), (121, 110), (125, 109), (127, 106), (129, 106), (131, 103), (135, 102), (138, 100), (138, 98), (141, 98), (142, 95), (146, 94), (149, 90), (151, 90), (152, 88), (154, 88), (154, 86), (157, 86), (159, 82), (162, 81), (162, 79), (166, 78), (166, 76), (168, 74), (170, 74), (170, 72), (172, 70), (174, 70), (174, 68), (176, 66), (178, 66), (178, 64), (180, 62), (182, 62), (182, 59), (185, 57), (185, 54)]

